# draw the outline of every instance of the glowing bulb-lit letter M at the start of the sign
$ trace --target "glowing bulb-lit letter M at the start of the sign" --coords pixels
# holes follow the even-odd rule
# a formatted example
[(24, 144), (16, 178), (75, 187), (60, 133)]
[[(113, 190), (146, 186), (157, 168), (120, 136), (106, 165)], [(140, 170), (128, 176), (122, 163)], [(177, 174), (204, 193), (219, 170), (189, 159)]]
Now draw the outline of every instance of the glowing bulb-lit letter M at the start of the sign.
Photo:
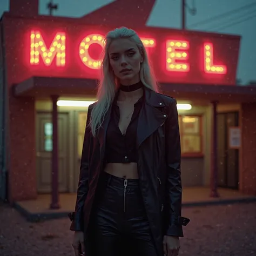
[(65, 66), (65, 33), (58, 32), (53, 39), (50, 48), (46, 47), (44, 39), (39, 31), (31, 31), (30, 39), (30, 63), (32, 65), (38, 65), (41, 56), (46, 66), (50, 66), (55, 57), (57, 66)]

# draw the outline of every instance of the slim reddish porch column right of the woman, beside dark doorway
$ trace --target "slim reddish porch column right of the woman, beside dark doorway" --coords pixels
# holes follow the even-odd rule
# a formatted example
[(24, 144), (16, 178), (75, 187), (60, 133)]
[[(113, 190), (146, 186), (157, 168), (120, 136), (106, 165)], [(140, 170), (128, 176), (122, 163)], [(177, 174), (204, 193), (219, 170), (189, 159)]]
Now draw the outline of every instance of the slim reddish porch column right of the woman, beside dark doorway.
[(217, 167), (217, 101), (212, 104), (212, 134), (211, 134), (211, 192), (210, 197), (219, 197), (218, 186), (218, 167)]

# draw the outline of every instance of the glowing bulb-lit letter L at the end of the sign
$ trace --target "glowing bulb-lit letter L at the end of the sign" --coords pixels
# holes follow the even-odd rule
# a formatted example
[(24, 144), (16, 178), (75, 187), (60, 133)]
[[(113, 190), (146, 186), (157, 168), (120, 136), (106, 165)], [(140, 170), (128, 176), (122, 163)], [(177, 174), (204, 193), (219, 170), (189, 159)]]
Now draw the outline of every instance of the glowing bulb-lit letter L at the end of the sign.
[(204, 70), (205, 73), (226, 74), (227, 67), (225, 65), (213, 64), (213, 44), (204, 44)]

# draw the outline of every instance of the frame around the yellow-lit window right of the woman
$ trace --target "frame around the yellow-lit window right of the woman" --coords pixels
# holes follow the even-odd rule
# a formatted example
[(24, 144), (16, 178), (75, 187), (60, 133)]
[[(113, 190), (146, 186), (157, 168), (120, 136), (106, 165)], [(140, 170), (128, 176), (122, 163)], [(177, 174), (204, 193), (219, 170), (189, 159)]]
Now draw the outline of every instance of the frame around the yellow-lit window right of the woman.
[[(195, 134), (200, 137), (200, 152), (187, 152), (187, 153), (182, 153), (181, 150), (181, 157), (182, 158), (197, 158), (197, 157), (204, 157), (204, 136), (203, 136), (203, 115), (202, 114), (179, 114), (179, 131), (180, 131), (180, 144), (181, 147), (183, 145), (183, 122), (182, 118), (183, 117), (196, 117), (199, 118), (199, 133)], [(181, 121), (181, 122), (180, 122)], [(186, 135), (186, 133), (185, 133)]]

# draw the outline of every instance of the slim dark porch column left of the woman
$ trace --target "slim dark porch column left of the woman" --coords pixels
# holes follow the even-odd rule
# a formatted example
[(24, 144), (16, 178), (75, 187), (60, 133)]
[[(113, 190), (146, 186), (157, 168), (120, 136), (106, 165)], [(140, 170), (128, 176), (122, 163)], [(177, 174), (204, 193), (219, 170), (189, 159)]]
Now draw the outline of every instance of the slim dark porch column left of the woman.
[(57, 95), (52, 95), (52, 178), (51, 178), (51, 209), (58, 209), (59, 188), (58, 188), (58, 108)]

